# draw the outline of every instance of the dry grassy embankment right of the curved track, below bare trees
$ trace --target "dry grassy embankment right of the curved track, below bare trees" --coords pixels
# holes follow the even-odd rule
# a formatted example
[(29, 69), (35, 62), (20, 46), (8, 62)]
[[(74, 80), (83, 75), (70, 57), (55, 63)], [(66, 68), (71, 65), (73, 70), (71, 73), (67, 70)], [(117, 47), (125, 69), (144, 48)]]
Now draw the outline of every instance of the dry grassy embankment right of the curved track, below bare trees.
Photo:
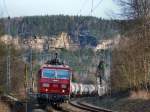
[(117, 112), (150, 112), (150, 98), (144, 93), (140, 96), (118, 95), (86, 98), (86, 103), (111, 109)]

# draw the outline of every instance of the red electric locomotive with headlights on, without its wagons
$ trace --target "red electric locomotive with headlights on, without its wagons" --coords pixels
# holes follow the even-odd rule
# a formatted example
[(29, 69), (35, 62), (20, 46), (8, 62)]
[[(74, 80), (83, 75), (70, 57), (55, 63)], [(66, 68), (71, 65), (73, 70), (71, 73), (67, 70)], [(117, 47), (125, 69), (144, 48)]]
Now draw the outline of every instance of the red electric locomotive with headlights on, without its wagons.
[(40, 104), (60, 104), (70, 99), (72, 70), (57, 59), (48, 61), (39, 70), (38, 101)]

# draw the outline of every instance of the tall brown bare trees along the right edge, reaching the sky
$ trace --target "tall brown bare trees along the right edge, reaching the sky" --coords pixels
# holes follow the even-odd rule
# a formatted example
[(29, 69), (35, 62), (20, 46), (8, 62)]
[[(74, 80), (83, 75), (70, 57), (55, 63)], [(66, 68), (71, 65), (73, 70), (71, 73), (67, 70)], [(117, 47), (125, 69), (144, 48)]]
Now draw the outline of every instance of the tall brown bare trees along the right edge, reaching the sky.
[[(145, 89), (150, 81), (150, 0), (117, 0), (122, 7), (122, 16), (130, 30), (124, 31), (127, 40), (113, 53), (114, 77), (112, 83), (117, 88)], [(126, 43), (126, 44), (124, 44)], [(119, 81), (120, 79), (120, 81)], [(116, 81), (117, 80), (117, 81)], [(120, 84), (120, 85), (118, 85)]]

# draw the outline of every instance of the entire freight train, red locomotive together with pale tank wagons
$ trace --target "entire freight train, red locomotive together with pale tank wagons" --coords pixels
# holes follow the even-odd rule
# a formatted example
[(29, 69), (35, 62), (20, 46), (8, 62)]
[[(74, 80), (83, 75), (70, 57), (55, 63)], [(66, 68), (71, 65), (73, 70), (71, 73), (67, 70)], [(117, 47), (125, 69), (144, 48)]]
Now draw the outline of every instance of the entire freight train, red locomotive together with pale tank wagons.
[[(61, 63), (57, 55), (40, 67), (37, 80), (37, 100), (42, 104), (60, 104), (71, 97), (96, 95), (100, 86), (72, 82), (73, 70)], [(99, 90), (98, 90), (99, 88)]]

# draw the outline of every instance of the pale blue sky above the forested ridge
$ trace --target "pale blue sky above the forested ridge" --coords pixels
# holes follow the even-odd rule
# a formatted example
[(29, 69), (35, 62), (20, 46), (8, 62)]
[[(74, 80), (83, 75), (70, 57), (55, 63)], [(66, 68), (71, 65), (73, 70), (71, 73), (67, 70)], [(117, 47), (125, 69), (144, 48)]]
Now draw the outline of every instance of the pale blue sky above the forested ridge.
[(0, 7), (1, 17), (64, 14), (110, 19), (119, 12), (114, 0), (93, 0), (93, 5), (92, 0), (0, 0)]

